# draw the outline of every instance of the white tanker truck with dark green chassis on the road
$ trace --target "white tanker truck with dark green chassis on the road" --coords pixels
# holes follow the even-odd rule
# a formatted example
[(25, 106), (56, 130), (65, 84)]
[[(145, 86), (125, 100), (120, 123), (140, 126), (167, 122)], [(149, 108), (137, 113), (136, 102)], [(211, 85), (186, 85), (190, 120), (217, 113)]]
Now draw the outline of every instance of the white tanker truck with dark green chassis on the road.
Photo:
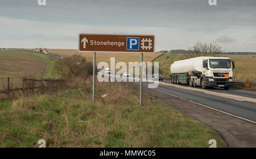
[(201, 56), (175, 61), (171, 65), (171, 82), (191, 87), (222, 87), (228, 90), (233, 85), (234, 61), (228, 57)]

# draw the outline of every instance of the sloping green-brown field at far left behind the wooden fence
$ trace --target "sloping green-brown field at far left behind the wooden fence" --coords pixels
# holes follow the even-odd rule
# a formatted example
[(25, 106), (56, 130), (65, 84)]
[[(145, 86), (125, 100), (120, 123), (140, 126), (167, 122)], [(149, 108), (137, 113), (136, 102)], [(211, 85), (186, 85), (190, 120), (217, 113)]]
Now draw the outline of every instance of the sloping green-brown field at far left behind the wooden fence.
[(46, 55), (14, 49), (0, 50), (0, 78), (52, 78), (54, 64), (53, 58)]

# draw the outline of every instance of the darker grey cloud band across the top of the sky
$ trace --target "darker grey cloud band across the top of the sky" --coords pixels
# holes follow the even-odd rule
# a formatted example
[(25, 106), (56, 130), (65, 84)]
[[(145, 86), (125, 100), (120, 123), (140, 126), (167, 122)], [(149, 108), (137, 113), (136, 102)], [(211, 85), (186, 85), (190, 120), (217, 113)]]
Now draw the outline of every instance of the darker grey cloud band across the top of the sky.
[[(255, 0), (68, 1), (1, 0), (0, 15), (10, 18), (106, 26), (172, 26), (216, 31), (229, 26), (256, 26)], [(254, 20), (253, 20), (254, 19)]]

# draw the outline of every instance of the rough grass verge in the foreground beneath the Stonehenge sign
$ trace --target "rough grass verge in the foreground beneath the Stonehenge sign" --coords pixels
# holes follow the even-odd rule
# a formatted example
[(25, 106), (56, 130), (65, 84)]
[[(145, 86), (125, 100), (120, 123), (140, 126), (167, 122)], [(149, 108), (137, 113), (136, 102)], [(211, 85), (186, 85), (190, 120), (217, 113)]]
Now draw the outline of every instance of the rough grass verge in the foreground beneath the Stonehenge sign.
[[(121, 93), (120, 93), (121, 92)], [(101, 98), (108, 94), (106, 98)], [(97, 102), (79, 89), (0, 102), (0, 147), (226, 147), (207, 125), (120, 83), (97, 83)]]

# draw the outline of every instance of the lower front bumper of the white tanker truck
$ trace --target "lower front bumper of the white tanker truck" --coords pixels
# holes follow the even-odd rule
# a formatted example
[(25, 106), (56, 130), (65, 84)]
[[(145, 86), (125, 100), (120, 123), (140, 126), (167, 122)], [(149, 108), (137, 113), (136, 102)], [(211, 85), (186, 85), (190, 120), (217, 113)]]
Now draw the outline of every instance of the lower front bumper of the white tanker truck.
[(232, 78), (212, 78), (212, 80), (205, 81), (205, 85), (208, 87), (232, 87), (233, 81), (230, 81)]

